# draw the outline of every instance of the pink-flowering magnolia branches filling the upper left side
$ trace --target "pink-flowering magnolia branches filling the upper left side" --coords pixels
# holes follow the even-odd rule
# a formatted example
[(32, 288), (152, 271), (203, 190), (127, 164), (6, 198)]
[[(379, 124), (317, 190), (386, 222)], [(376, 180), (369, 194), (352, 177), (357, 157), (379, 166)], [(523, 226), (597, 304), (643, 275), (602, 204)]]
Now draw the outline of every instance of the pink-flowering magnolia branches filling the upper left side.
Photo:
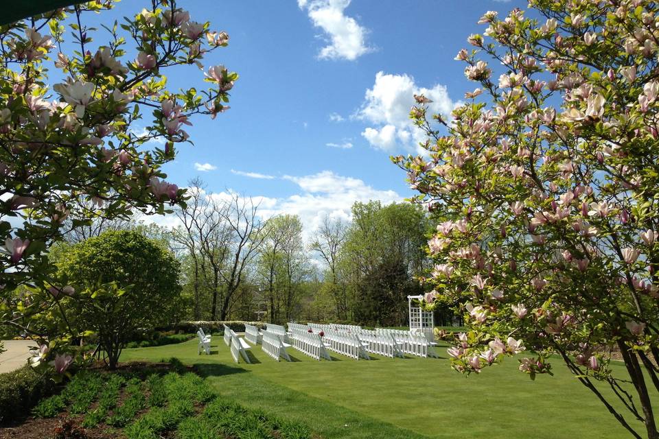
[[(229, 108), (238, 75), (201, 64), (229, 36), (192, 21), (175, 1), (148, 5), (104, 29), (84, 22), (113, 1), (0, 27), (0, 324), (38, 338), (30, 316), (63, 313), (62, 295), (76, 297), (54, 280), (47, 258), (67, 227), (183, 203), (185, 192), (163, 180), (161, 166), (174, 158), (176, 143), (188, 141), (183, 128), (192, 115), (215, 118)], [(205, 75), (209, 88), (168, 89), (165, 71), (183, 64)], [(150, 147), (152, 140), (164, 147)], [(17, 287), (28, 293), (16, 297)], [(51, 360), (66, 370), (74, 332), (51, 337), (32, 363)]]

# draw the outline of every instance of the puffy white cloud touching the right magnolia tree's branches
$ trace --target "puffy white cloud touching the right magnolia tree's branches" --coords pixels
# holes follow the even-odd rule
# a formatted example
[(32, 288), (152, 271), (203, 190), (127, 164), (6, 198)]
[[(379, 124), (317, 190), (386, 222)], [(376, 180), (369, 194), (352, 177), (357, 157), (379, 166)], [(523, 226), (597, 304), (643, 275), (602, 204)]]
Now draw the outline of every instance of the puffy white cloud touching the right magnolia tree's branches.
[(393, 152), (401, 146), (413, 150), (424, 134), (413, 125), (409, 112), (415, 104), (414, 95), (421, 94), (432, 100), (428, 104), (431, 113), (446, 118), (457, 104), (441, 84), (426, 88), (418, 86), (410, 75), (376, 73), (373, 88), (366, 91), (364, 104), (355, 115), (372, 125), (362, 131), (362, 136), (379, 150)]

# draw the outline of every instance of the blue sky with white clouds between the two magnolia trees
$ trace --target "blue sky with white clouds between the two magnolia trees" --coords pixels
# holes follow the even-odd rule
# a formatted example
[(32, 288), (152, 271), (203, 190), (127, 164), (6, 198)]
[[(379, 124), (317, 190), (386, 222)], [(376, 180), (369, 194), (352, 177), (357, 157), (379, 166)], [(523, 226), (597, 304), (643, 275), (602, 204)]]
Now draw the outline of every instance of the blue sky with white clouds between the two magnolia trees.
[[(213, 192), (262, 198), (266, 215), (301, 215), (309, 233), (325, 213), (349, 219), (354, 200), (411, 194), (391, 154), (415, 152), (407, 119), (424, 91), (450, 112), (475, 85), (453, 60), (487, 10), (507, 14), (525, 1), (180, 1), (194, 21), (225, 30), (229, 47), (207, 56), (240, 74), (231, 110), (193, 119), (195, 145), (165, 167), (185, 186), (200, 176)], [(132, 15), (124, 1), (102, 18)], [(172, 86), (203, 86), (203, 73), (168, 73)], [(201, 165), (205, 171), (197, 170)], [(256, 178), (256, 177), (262, 178)]]

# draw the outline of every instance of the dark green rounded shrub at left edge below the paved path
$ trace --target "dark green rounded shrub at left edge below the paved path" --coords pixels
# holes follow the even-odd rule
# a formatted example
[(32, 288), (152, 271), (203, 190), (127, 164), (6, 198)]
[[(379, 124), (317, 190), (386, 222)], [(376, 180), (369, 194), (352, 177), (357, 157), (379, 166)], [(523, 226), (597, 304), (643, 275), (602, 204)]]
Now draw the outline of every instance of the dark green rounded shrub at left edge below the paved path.
[(29, 414), (32, 407), (53, 390), (52, 381), (37, 375), (30, 366), (0, 374), (0, 425)]

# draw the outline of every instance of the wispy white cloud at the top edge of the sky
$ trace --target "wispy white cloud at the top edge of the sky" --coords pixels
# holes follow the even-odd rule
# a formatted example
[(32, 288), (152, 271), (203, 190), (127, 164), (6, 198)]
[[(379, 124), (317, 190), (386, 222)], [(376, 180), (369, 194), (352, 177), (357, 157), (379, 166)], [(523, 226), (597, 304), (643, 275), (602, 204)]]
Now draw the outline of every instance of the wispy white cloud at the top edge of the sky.
[(352, 17), (343, 14), (350, 0), (298, 0), (300, 9), (306, 9), (315, 27), (327, 34), (329, 45), (318, 54), (321, 59), (356, 60), (369, 49), (365, 42), (368, 29), (358, 25)]

